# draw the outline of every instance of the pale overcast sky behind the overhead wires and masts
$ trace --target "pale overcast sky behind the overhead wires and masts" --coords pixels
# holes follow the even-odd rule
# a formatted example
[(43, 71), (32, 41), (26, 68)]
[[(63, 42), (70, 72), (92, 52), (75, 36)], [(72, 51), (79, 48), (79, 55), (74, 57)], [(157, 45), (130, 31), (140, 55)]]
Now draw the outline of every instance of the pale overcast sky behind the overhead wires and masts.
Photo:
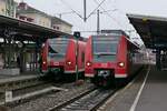
[[(16, 0), (21, 1), (21, 0)], [(84, 16), (84, 0), (23, 0), (33, 8), (45, 11), (52, 16), (58, 16), (61, 12), (70, 12), (75, 10), (77, 13)], [(104, 0), (87, 0), (87, 17), (92, 10), (97, 8), (97, 2)], [(100, 14), (100, 29), (122, 29), (132, 30), (129, 24), (126, 13), (148, 14), (167, 17), (166, 0), (105, 0), (99, 8), (100, 11), (108, 11), (108, 13)], [(84, 22), (77, 14), (62, 14), (61, 17), (67, 22), (73, 26), (73, 31), (96, 31), (97, 30), (97, 14), (88, 18)], [(82, 33), (88, 37), (91, 33)], [(130, 34), (136, 36), (134, 33)]]

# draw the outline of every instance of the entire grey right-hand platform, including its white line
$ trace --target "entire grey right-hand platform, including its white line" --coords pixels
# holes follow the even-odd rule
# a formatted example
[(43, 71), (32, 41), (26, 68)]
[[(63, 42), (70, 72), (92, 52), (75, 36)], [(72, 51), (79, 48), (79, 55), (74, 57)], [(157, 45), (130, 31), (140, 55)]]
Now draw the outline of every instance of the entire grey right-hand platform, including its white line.
[(167, 71), (158, 71), (151, 65), (111, 97), (99, 111), (166, 111), (166, 109)]

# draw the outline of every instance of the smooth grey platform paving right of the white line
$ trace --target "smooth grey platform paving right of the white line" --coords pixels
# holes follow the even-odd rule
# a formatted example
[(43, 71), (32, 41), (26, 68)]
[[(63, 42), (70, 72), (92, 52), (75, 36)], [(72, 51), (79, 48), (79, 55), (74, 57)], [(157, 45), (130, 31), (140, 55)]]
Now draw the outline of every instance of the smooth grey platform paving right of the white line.
[(135, 111), (167, 111), (167, 71), (151, 67)]

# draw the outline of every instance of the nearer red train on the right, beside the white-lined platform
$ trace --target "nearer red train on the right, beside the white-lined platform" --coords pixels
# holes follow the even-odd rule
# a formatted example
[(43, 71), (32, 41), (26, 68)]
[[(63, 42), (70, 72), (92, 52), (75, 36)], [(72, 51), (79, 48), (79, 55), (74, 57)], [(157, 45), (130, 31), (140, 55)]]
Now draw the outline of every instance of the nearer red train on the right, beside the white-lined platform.
[(97, 85), (125, 83), (140, 68), (134, 62), (138, 49), (121, 30), (90, 36), (86, 47), (85, 75)]

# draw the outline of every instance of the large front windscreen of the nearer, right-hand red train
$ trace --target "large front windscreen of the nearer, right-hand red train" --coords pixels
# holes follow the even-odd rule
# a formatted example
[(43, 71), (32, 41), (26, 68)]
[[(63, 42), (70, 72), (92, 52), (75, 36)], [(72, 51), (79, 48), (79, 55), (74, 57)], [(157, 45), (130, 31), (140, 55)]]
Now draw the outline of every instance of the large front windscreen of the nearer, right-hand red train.
[(116, 60), (119, 37), (94, 36), (92, 52), (95, 62), (108, 62)]

